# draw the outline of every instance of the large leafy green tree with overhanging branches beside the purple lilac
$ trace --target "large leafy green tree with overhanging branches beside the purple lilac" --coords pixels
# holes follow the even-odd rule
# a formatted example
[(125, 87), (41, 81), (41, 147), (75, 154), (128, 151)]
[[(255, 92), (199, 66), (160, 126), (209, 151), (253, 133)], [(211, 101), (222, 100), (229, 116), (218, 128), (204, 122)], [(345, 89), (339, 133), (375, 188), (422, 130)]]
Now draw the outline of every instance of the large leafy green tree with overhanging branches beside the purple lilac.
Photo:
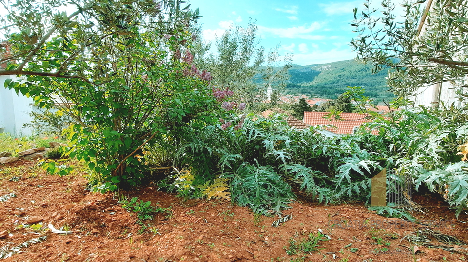
[[(203, 126), (225, 100), (208, 86), (190, 54), (198, 10), (181, 1), (1, 0), (10, 54), (5, 85), (39, 106), (55, 104), (79, 124), (70, 154), (87, 162), (97, 189), (135, 185), (145, 172), (142, 147), (191, 122)], [(63, 10), (76, 10), (66, 12)], [(53, 163), (51, 169), (56, 170)]]

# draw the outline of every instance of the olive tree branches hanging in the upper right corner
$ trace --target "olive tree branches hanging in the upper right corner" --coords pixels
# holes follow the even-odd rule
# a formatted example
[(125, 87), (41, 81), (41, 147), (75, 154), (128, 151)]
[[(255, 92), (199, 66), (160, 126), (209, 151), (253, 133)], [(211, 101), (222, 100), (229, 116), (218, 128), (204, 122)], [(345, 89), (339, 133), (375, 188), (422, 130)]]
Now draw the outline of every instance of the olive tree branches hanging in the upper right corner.
[(388, 83), (401, 96), (418, 87), (452, 82), (466, 86), (468, 74), (468, 2), (421, 0), (395, 4), (383, 0), (382, 9), (354, 9), (352, 24), (358, 35), (351, 41), (357, 58), (372, 63), (373, 72), (389, 70)]

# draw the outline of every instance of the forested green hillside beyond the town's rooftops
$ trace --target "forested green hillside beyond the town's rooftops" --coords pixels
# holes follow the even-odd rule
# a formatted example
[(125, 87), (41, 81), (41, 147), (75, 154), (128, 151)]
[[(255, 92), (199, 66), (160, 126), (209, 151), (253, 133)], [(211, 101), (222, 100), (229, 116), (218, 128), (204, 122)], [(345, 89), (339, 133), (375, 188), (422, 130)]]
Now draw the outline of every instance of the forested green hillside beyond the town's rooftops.
[(385, 82), (387, 71), (371, 73), (372, 66), (355, 60), (338, 61), (320, 65), (293, 65), (285, 94), (336, 98), (346, 86), (361, 86), (371, 98), (391, 97)]

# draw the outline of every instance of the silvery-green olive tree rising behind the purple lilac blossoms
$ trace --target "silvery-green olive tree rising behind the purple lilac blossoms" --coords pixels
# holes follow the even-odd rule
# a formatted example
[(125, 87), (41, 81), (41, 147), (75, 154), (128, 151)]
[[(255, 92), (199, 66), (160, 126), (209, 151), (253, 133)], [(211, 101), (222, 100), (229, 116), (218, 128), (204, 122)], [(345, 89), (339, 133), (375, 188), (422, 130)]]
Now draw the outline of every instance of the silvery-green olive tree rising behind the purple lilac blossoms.
[(216, 39), (216, 53), (209, 53), (211, 43), (197, 41), (197, 65), (211, 72), (213, 84), (233, 91), (237, 101), (254, 102), (259, 94), (266, 99), (263, 94), (269, 85), (282, 88), (289, 78), (291, 57), (281, 60), (278, 47), (265, 52), (257, 34), (252, 21), (247, 27), (231, 27)]

